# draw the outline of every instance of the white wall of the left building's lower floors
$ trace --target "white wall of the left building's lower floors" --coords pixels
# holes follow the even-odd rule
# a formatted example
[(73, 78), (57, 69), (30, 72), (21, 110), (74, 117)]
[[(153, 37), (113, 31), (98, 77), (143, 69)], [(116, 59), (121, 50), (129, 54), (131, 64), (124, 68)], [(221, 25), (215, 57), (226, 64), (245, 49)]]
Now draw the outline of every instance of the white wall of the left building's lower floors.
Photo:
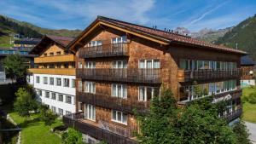
[[(72, 87), (72, 80), (75, 79), (75, 76), (66, 76), (66, 75), (50, 75), (50, 74), (32, 74), (27, 76), (30, 78), (29, 84), (32, 84), (33, 87), (42, 91), (42, 95), (38, 95), (38, 101), (49, 105), (49, 108), (56, 107), (56, 112), (58, 113), (58, 108), (63, 109), (63, 114), (68, 112), (75, 112), (75, 94), (76, 90)], [(40, 81), (37, 83), (37, 77)], [(48, 83), (44, 84), (44, 77), (47, 78)], [(54, 78), (54, 85), (49, 84), (49, 78)], [(56, 85), (56, 78), (61, 78), (61, 86)], [(64, 78), (69, 79), (69, 87), (64, 87)], [(45, 92), (49, 91), (49, 98), (45, 97)], [(56, 94), (56, 100), (52, 99), (52, 93)], [(63, 95), (63, 101), (58, 101), (58, 95)], [(71, 104), (66, 102), (66, 96), (69, 95), (72, 98)]]

